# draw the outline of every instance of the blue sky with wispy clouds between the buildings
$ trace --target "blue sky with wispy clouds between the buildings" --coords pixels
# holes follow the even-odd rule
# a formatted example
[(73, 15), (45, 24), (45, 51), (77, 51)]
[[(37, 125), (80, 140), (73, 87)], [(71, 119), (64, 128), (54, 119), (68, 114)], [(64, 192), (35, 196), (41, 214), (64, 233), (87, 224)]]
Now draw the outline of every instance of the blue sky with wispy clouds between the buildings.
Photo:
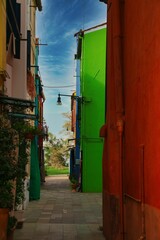
[(40, 46), (39, 51), (46, 97), (44, 118), (50, 132), (64, 137), (60, 134), (65, 121), (62, 113), (70, 111), (71, 99), (62, 97), (61, 106), (57, 106), (56, 101), (58, 93), (71, 95), (75, 90), (74, 34), (106, 22), (106, 4), (99, 0), (42, 0), (42, 6), (42, 12), (37, 11), (36, 36), (40, 43), (48, 44)]

